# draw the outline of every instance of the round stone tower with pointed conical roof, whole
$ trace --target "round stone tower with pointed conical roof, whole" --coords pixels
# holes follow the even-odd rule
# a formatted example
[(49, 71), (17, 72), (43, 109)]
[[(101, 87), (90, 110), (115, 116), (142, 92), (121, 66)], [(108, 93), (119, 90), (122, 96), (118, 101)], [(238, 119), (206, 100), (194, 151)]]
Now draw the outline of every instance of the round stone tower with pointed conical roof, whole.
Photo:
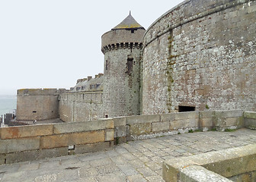
[(104, 117), (139, 115), (140, 61), (145, 29), (131, 14), (101, 36)]

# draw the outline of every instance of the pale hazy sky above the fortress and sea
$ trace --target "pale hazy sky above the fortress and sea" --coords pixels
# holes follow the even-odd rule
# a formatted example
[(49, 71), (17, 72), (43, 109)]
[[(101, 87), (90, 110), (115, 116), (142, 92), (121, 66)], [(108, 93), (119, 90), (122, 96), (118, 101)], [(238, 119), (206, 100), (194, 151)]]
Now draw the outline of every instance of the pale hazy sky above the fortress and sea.
[(0, 94), (103, 73), (101, 36), (132, 11), (146, 29), (182, 0), (1, 0)]

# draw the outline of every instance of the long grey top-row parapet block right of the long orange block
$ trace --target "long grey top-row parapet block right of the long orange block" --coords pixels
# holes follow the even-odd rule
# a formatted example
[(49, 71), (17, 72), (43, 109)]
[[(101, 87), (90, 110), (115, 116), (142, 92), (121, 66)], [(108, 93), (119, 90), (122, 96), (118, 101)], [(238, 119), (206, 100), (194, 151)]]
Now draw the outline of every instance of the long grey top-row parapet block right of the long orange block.
[(104, 130), (114, 128), (113, 119), (104, 119), (98, 121), (88, 121), (88, 122), (73, 122), (65, 124), (54, 124), (53, 133), (76, 133), (83, 131), (93, 131), (93, 130)]

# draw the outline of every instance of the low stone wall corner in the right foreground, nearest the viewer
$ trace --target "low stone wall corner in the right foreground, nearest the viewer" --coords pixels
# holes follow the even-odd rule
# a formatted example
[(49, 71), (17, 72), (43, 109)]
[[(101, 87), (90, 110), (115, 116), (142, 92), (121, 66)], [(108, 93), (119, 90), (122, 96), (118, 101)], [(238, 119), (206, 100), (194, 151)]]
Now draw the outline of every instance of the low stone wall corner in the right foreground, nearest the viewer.
[(162, 174), (165, 181), (254, 181), (256, 145), (167, 160)]

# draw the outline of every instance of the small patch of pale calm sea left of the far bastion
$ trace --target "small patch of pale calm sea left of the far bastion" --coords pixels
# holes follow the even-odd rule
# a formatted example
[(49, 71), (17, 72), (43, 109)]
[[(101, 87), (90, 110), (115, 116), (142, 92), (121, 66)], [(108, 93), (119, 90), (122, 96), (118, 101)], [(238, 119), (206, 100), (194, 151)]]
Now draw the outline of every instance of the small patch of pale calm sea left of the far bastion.
[(0, 95), (0, 116), (17, 108), (17, 96)]

